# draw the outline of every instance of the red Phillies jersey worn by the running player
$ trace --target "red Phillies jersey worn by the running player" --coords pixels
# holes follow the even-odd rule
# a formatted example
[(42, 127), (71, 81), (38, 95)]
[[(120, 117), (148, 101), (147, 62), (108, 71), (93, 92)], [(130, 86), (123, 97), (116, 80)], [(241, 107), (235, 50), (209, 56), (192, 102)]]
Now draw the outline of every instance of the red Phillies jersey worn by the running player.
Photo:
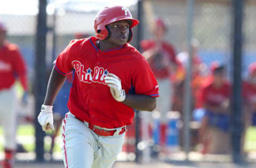
[(125, 93), (158, 97), (158, 85), (145, 58), (130, 44), (100, 51), (95, 37), (72, 40), (58, 56), (55, 70), (75, 71), (68, 101), (69, 111), (79, 119), (103, 128), (132, 123), (134, 111), (117, 102), (104, 78), (116, 74)]

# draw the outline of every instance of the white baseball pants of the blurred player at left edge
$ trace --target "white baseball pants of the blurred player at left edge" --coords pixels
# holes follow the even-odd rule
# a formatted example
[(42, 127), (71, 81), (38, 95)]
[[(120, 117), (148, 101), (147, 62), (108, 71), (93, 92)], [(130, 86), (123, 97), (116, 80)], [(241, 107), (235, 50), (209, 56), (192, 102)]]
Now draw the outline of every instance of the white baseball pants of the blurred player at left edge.
[(16, 148), (17, 97), (14, 87), (0, 90), (0, 123), (3, 125), (4, 148)]

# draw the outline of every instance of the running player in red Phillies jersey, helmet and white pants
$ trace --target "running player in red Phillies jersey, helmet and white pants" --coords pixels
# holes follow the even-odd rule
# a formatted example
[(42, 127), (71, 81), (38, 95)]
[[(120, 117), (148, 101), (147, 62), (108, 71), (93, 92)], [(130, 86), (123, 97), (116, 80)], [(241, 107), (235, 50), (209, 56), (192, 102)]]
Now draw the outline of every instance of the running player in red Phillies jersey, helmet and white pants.
[(69, 111), (62, 122), (66, 168), (108, 168), (122, 150), (134, 110), (153, 111), (158, 85), (145, 58), (128, 44), (139, 23), (123, 6), (105, 7), (94, 21), (96, 37), (72, 40), (58, 56), (38, 122), (53, 127), (53, 102), (74, 71)]

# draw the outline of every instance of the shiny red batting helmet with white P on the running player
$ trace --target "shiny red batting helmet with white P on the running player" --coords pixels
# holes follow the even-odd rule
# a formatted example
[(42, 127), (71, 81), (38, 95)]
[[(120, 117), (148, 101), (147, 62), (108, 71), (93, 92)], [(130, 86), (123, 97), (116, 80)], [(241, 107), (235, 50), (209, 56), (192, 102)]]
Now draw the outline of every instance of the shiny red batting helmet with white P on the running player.
[(94, 20), (96, 37), (100, 40), (107, 39), (109, 32), (106, 26), (121, 20), (131, 20), (129, 38), (127, 40), (127, 43), (129, 43), (132, 40), (132, 28), (139, 24), (139, 21), (133, 19), (131, 12), (123, 6), (105, 7), (96, 15)]

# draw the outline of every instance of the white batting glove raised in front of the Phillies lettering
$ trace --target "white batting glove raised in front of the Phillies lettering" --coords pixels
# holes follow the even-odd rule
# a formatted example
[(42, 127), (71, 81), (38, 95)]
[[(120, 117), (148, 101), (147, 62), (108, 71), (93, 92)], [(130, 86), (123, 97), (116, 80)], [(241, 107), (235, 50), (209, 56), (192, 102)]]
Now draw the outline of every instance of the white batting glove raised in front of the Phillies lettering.
[(121, 81), (118, 79), (117, 75), (108, 73), (107, 77), (105, 77), (105, 83), (107, 83), (112, 96), (117, 102), (123, 102), (125, 99), (125, 91), (122, 89)]

